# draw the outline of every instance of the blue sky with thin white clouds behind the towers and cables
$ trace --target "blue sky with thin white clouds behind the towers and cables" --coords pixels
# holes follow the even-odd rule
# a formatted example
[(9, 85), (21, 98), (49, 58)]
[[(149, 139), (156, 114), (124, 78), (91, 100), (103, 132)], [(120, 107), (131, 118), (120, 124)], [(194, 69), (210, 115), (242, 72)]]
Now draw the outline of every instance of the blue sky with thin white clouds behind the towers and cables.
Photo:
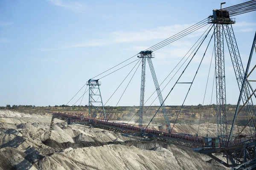
[[(207, 18), (212, 14), (212, 9), (220, 8), (221, 2), (222, 0), (0, 0), (0, 106), (66, 104), (88, 79)], [(223, 8), (242, 2), (245, 1), (226, 0)], [(256, 31), (256, 12), (236, 16), (236, 22), (233, 29), (246, 66)], [(204, 30), (155, 52), (156, 57), (152, 61), (159, 84)], [(183, 81), (191, 81), (207, 42), (202, 46), (198, 59), (192, 62), (191, 70), (184, 75)], [(212, 49), (211, 42), (185, 105), (203, 102)], [(227, 103), (236, 104), (238, 86), (227, 48), (225, 56)], [(100, 79), (103, 102), (109, 99), (134, 65), (135, 62)], [(211, 69), (205, 104), (210, 103), (213, 73)], [(140, 74), (141, 67), (118, 105), (140, 104)], [(131, 75), (106, 105), (117, 104), (130, 78)], [(177, 77), (167, 85), (163, 98), (176, 80)], [(181, 105), (187, 87), (183, 85), (175, 88), (165, 104)], [(83, 92), (84, 89), (78, 96)], [(154, 84), (147, 65), (145, 99), (153, 92)], [(212, 103), (216, 103), (215, 94), (213, 96)], [(145, 105), (149, 105), (155, 97), (153, 95)], [(78, 98), (75, 97), (69, 105), (73, 105), (76, 99)], [(88, 94), (85, 94), (82, 105), (87, 103)], [(153, 105), (159, 105), (159, 102), (156, 100)]]

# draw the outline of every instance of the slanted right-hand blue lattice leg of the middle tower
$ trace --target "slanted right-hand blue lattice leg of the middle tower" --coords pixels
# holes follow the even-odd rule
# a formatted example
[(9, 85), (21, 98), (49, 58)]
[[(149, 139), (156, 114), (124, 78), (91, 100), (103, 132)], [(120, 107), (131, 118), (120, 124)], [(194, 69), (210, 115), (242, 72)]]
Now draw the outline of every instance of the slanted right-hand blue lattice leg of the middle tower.
[(160, 87), (159, 87), (159, 84), (158, 84), (158, 81), (157, 81), (157, 76), (156, 76), (156, 73), (154, 71), (154, 66), (153, 66), (151, 58), (147, 58), (147, 59), (148, 59), (148, 65), (149, 65), (149, 68), (150, 68), (150, 71), (151, 71), (151, 74), (152, 74), (152, 78), (153, 78), (153, 81), (154, 81), (154, 85), (156, 87), (157, 96), (158, 96), (160, 105), (163, 103), (163, 105), (161, 105), (161, 108), (162, 108), (162, 112), (163, 112), (163, 116), (164, 116), (164, 119), (165, 119), (165, 122), (166, 122), (167, 129), (170, 133), (171, 132), (171, 123), (170, 123), (170, 120), (168, 118), (166, 107), (165, 107), (164, 102), (163, 102), (163, 96), (162, 96), (162, 93), (160, 91)]

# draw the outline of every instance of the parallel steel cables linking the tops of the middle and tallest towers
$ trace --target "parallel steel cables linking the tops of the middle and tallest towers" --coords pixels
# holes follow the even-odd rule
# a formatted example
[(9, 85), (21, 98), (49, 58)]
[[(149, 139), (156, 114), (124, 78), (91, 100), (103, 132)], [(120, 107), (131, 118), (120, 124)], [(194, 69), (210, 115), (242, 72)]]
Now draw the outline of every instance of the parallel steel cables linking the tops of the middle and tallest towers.
[(148, 48), (147, 50), (151, 50), (151, 49), (154, 49), (154, 48), (158, 48), (160, 45), (162, 45), (162, 44), (164, 44), (164, 43), (166, 43), (166, 42), (172, 40), (172, 39), (175, 38), (175, 37), (179, 37), (179, 36), (182, 35), (182, 34), (186, 34), (187, 32), (191, 31), (191, 29), (197, 28), (198, 26), (200, 26), (201, 24), (204, 24), (204, 23), (206, 23), (206, 22), (207, 22), (207, 18), (204, 19), (204, 20), (201, 20), (200, 22), (194, 24), (193, 26), (190, 26), (189, 28), (186, 28), (186, 29), (183, 30), (183, 31), (178, 32), (177, 34), (173, 35), (172, 37), (169, 37), (169, 38), (167, 38), (166, 40), (163, 40), (163, 41), (157, 43), (156, 45), (151, 46), (151, 47)]

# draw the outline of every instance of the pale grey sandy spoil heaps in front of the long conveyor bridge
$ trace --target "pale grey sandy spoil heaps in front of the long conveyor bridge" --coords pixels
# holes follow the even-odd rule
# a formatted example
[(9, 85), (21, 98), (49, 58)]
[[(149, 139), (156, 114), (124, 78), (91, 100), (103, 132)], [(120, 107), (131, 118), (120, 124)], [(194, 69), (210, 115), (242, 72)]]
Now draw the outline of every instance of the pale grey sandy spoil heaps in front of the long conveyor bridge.
[[(51, 116), (0, 111), (0, 170), (227, 169), (189, 147), (140, 141), (60, 120), (55, 121), (51, 140), (47, 140), (50, 121)], [(187, 126), (197, 131), (196, 125)], [(214, 133), (215, 125), (211, 130)]]

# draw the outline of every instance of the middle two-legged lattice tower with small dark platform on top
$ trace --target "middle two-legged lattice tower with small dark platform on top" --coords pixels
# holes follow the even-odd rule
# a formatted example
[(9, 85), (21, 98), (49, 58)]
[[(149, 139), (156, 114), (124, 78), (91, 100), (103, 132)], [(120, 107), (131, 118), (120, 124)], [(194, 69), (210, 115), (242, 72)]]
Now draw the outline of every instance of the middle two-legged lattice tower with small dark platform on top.
[(141, 129), (141, 132), (143, 133), (145, 70), (146, 70), (146, 60), (148, 60), (148, 65), (149, 65), (149, 68), (150, 68), (150, 71), (151, 71), (151, 74), (152, 74), (152, 78), (153, 78), (153, 81), (154, 81), (154, 85), (155, 85), (155, 88), (156, 88), (156, 91), (157, 91), (157, 96), (158, 96), (160, 105), (162, 105), (161, 108), (162, 108), (162, 111), (163, 111), (163, 116), (164, 116), (164, 119), (165, 119), (165, 122), (166, 122), (166, 126), (167, 126), (167, 129), (168, 129), (169, 133), (170, 133), (170, 131), (171, 131), (170, 121), (169, 121), (169, 118), (168, 118), (168, 115), (167, 115), (166, 107), (163, 103), (163, 96), (162, 96), (162, 93), (160, 91), (160, 87), (159, 87), (159, 84), (158, 84), (158, 81), (157, 81), (157, 76), (156, 76), (156, 73), (154, 71), (154, 66), (153, 66), (153, 63), (152, 63), (152, 60), (151, 60), (151, 58), (154, 58), (154, 54), (152, 54), (152, 51), (140, 51), (138, 57), (142, 59), (141, 88), (140, 88), (140, 111), (139, 111), (139, 127)]

